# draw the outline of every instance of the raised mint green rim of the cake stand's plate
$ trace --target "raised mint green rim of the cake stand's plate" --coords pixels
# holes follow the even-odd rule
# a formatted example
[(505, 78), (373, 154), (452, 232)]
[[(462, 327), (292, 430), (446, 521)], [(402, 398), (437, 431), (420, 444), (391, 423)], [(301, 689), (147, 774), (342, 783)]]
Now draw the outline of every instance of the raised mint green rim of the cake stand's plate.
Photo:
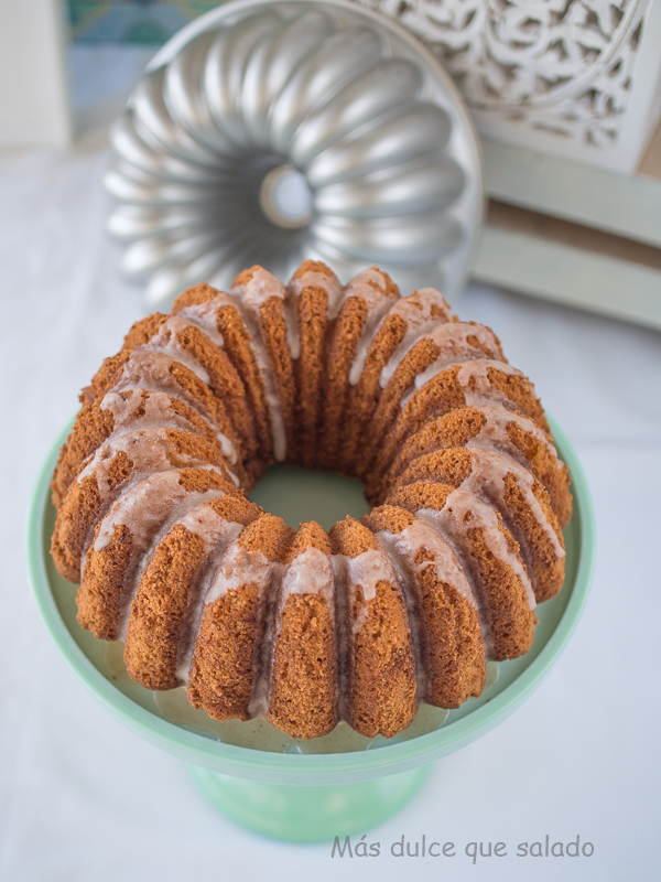
[(51, 506), (50, 482), (59, 448), (73, 420), (58, 434), (39, 472), (28, 514), (26, 556), (32, 594), (51, 638), (84, 685), (116, 717), (150, 743), (194, 765), (226, 775), (280, 784), (323, 785), (369, 781), (427, 765), (489, 732), (540, 685), (560, 657), (583, 614), (596, 557), (595, 515), (585, 473), (565, 433), (546, 413), (561, 459), (572, 475), (574, 518), (578, 520), (578, 566), (562, 617), (537, 658), (502, 692), (466, 717), (425, 735), (373, 751), (285, 754), (241, 747), (171, 723), (137, 704), (89, 660), (72, 636), (51, 591), (44, 548), (44, 517)]

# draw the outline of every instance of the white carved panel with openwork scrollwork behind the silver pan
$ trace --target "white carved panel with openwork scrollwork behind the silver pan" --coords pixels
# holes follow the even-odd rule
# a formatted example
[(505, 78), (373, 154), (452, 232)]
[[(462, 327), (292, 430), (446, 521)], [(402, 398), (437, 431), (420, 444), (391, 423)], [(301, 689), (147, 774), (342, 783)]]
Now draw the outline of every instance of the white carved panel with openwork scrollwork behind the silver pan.
[(661, 112), (661, 0), (357, 0), (454, 76), (483, 135), (632, 172)]

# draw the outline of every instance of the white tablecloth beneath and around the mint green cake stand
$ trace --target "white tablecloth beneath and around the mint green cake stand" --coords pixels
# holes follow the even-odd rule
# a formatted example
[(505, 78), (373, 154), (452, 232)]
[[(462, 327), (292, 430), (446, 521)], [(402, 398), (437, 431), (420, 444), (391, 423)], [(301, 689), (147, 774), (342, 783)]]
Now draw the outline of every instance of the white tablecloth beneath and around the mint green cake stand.
[[(111, 79), (104, 58), (112, 61), (78, 58), (88, 94), (91, 73), (105, 88)], [(102, 233), (101, 141), (88, 133), (66, 152), (0, 160), (0, 879), (658, 879), (661, 337), (652, 331), (477, 284), (459, 302), (463, 319), (495, 327), (575, 444), (599, 559), (585, 616), (546, 680), (368, 832), (381, 857), (340, 861), (328, 846), (235, 827), (181, 763), (124, 730), (68, 670), (28, 588), (28, 498), (77, 390), (145, 311)], [(453, 841), (457, 857), (391, 857), (402, 833)], [(519, 842), (546, 833), (551, 842), (579, 835), (594, 856), (514, 857)], [(503, 841), (508, 854), (473, 867), (472, 841)]]

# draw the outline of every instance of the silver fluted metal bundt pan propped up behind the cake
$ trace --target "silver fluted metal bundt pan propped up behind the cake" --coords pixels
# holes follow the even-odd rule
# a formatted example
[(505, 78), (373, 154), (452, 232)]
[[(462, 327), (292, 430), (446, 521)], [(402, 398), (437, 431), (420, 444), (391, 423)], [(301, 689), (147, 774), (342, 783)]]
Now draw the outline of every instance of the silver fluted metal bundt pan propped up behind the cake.
[(155, 55), (112, 131), (108, 227), (151, 306), (261, 263), (378, 263), (452, 300), (479, 232), (460, 97), (402, 28), (343, 0), (240, 0)]

